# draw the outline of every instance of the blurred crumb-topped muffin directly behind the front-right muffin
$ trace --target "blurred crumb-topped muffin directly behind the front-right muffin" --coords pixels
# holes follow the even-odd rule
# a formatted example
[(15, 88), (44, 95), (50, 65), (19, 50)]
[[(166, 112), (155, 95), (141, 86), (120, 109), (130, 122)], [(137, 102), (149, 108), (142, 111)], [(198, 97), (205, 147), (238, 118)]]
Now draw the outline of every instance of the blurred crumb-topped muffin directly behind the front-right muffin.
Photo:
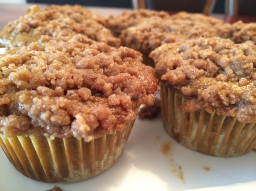
[(154, 67), (149, 53), (164, 43), (197, 37), (230, 37), (230, 24), (202, 14), (181, 12), (169, 18), (151, 17), (121, 32), (121, 44), (142, 52), (144, 63)]

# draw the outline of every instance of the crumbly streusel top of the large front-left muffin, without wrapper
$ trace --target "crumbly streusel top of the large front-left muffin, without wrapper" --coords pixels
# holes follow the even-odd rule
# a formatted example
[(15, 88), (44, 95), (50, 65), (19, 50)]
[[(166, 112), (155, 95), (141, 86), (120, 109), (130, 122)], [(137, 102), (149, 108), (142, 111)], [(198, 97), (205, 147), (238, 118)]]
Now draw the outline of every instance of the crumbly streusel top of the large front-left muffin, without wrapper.
[(90, 141), (135, 119), (153, 104), (154, 70), (139, 52), (77, 34), (41, 36), (0, 56), (0, 129)]

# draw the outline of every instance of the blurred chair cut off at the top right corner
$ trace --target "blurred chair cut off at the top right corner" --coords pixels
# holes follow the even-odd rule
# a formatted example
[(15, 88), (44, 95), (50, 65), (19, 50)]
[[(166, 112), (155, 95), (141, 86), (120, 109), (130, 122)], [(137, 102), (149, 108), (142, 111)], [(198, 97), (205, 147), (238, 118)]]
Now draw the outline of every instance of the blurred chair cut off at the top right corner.
[(256, 0), (225, 0), (225, 14), (256, 16)]

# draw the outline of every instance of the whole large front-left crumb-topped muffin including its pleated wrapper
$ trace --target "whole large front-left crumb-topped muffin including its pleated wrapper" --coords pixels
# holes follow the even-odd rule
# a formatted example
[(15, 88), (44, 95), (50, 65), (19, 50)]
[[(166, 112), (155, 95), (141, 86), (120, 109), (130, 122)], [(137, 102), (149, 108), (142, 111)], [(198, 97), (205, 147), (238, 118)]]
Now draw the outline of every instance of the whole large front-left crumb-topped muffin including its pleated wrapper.
[(135, 50), (77, 34), (41, 36), (0, 57), (0, 144), (23, 175), (74, 182), (118, 159), (159, 89)]

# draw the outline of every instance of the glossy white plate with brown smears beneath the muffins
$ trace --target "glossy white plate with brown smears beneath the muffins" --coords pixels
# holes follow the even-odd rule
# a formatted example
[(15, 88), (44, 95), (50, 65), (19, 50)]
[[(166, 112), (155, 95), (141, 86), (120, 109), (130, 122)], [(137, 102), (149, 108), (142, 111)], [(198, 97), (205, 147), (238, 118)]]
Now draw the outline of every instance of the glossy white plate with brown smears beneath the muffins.
[(89, 180), (77, 183), (31, 180), (11, 165), (2, 150), (0, 169), (1, 191), (45, 191), (55, 185), (64, 191), (175, 191), (243, 182), (256, 188), (256, 152), (233, 158), (194, 152), (166, 133), (160, 117), (137, 119), (119, 160), (109, 170)]

